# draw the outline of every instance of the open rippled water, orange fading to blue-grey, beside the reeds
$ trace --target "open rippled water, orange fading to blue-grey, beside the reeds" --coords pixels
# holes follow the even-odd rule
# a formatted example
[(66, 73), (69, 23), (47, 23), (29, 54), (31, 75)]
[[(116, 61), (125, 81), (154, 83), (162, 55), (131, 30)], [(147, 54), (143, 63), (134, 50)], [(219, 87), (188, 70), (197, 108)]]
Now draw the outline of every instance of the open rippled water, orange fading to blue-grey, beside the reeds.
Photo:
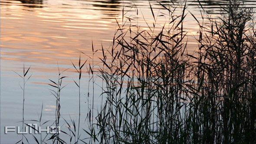
[[(0, 65), (1, 65), (1, 144), (13, 144), (21, 139), (21, 134), (8, 132), (4, 134), (5, 126), (21, 126), (23, 91), (20, 85), (23, 83), (15, 72), (22, 74), (23, 64), (25, 68), (31, 66), (28, 75), (30, 80), (26, 83), (25, 89), (25, 120), (38, 120), (38, 114), (43, 105), (43, 122), (55, 118), (56, 99), (49, 92), (48, 79), (57, 81), (58, 65), (61, 71), (72, 67), (72, 62), (78, 64), (79, 51), (88, 56), (81, 55), (82, 61), (92, 56), (92, 41), (95, 49), (101, 49), (101, 45), (107, 49), (112, 42), (116, 20), (122, 17), (122, 7), (127, 16), (135, 16), (135, 9), (130, 8), (135, 4), (144, 15), (148, 23), (153, 21), (148, 0), (1, 0), (0, 1)], [(165, 3), (167, 1), (164, 1)], [(212, 15), (219, 13), (223, 0), (200, 0), (205, 9)], [(246, 7), (256, 7), (255, 0), (245, 0)], [(155, 15), (161, 15), (161, 6), (151, 0)], [(180, 4), (184, 4), (180, 2)], [(187, 1), (188, 10), (200, 20), (198, 2)], [(182, 10), (182, 8), (181, 8)], [(179, 12), (177, 11), (177, 14)], [(141, 13), (138, 16), (138, 23), (141, 29), (146, 29)], [(163, 25), (166, 19), (158, 17), (158, 24)], [(157, 25), (158, 26), (158, 25)], [(193, 36), (197, 35), (198, 26), (194, 18), (188, 14), (185, 29), (188, 33), (189, 51), (197, 49), (197, 43)], [(97, 58), (96, 53), (95, 58)], [(72, 61), (72, 62), (71, 62)], [(97, 62), (97, 60), (95, 60)], [(96, 69), (96, 68), (95, 68)], [(15, 71), (15, 72), (13, 72)], [(63, 85), (66, 85), (61, 92), (61, 115), (66, 120), (78, 118), (78, 88), (74, 80), (78, 75), (73, 68), (63, 72)], [(84, 71), (87, 71), (84, 69)], [(97, 79), (96, 79), (97, 81)], [(20, 84), (20, 85), (19, 85)], [(92, 94), (89, 87), (89, 76), (84, 72), (82, 77), (81, 103), (84, 111), (81, 120), (86, 117), (88, 92)], [(100, 87), (95, 87), (95, 107), (100, 107)], [(92, 98), (89, 97), (89, 104)], [(97, 110), (95, 110), (97, 112)], [(69, 117), (70, 115), (70, 117)], [(62, 127), (65, 124), (62, 121)], [(26, 123), (33, 123), (26, 121)], [(86, 128), (86, 126), (85, 126)], [(38, 135), (35, 135), (39, 137)], [(31, 135), (27, 135), (30, 143), (35, 143)]]

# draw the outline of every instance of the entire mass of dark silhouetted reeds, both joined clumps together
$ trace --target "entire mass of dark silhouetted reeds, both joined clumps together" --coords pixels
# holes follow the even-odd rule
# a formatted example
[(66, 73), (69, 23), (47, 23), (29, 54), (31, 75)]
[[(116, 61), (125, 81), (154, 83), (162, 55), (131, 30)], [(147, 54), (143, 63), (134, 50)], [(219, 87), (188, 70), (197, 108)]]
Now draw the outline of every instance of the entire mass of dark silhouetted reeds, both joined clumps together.
[[(166, 13), (156, 13), (149, 2), (152, 23), (143, 15), (139, 17), (136, 6), (130, 8), (136, 16), (129, 16), (123, 8), (109, 49), (102, 46), (96, 50), (92, 44), (92, 58), (82, 52), (92, 63), (82, 64), (81, 56), (78, 67), (72, 63), (79, 74), (79, 81), (74, 81), (79, 88), (79, 120), (78, 126), (71, 117), (72, 124), (65, 120), (69, 134), (64, 133), (69, 135), (70, 144), (72, 137), (75, 144), (256, 143), (253, 9), (229, 0), (221, 7), (219, 17), (202, 13), (202, 22), (187, 10), (186, 1), (174, 3), (158, 3)], [(194, 54), (187, 51), (184, 23), (188, 15), (200, 27)], [(166, 18), (164, 25), (158, 22), (160, 17)], [(146, 28), (141, 28), (139, 18)], [(102, 56), (95, 64), (99, 51)], [(80, 105), (83, 66), (87, 66), (89, 83), (92, 81), (88, 86), (88, 109)], [(101, 79), (102, 86), (96, 78)], [(51, 81), (58, 92), (62, 77), (59, 80)], [(96, 85), (102, 91), (100, 109), (94, 105)], [(93, 94), (89, 101), (90, 88)], [(59, 93), (55, 94), (58, 125)], [(81, 111), (87, 111), (88, 128), (79, 132)], [(66, 143), (60, 140), (53, 143)]]

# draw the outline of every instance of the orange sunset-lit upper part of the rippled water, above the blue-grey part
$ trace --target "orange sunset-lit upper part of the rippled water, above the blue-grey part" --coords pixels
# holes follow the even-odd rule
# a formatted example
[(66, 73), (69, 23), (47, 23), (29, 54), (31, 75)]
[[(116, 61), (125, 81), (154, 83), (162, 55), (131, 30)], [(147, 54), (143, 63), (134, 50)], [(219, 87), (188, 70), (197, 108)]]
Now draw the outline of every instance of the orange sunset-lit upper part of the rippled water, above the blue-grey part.
[[(136, 9), (131, 8), (134, 3), (142, 13), (137, 15)], [(154, 29), (157, 34), (161, 31), (161, 26), (169, 26), (169, 19), (167, 15), (163, 15), (167, 11), (160, 10), (162, 7), (158, 3), (152, 2), (151, 5), (157, 17)], [(34, 69), (49, 72), (51, 69), (41, 65), (60, 61), (66, 67), (72, 66), (70, 60), (78, 61), (79, 50), (88, 55), (83, 55), (83, 59), (89, 59), (92, 56), (92, 42), (95, 49), (101, 49), (101, 43), (104, 49), (111, 46), (118, 28), (115, 18), (121, 23), (123, 7), (124, 12), (128, 12), (125, 16), (134, 19), (132, 24), (136, 25), (138, 22), (140, 30), (149, 30), (148, 25), (153, 26), (154, 18), (146, 0), (1, 0), (1, 59), (5, 63), (16, 61), (10, 62), (15, 63), (16, 67), (22, 67), (25, 62)], [(175, 14), (181, 14), (181, 10), (182, 7), (178, 8)], [(188, 10), (201, 22), (198, 9), (188, 7)], [(129, 24), (128, 21), (126, 23)], [(193, 39), (198, 35), (198, 29), (197, 22), (188, 14), (184, 30), (189, 32), (189, 51), (194, 51), (197, 47)], [(137, 29), (134, 27), (132, 30)], [(95, 57), (98, 56), (96, 53)], [(9, 71), (5, 67), (1, 70)]]

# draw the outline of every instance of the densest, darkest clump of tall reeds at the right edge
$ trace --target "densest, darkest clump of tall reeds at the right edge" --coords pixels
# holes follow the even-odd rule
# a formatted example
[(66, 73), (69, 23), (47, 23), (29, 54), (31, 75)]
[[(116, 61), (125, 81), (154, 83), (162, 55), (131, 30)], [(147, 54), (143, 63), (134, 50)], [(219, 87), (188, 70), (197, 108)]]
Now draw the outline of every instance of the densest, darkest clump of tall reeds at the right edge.
[[(256, 142), (253, 10), (230, 0), (200, 31), (193, 128), (197, 143)], [(253, 22), (254, 21), (254, 22)], [(193, 104), (193, 103), (192, 103)], [(197, 105), (198, 104), (198, 105)]]

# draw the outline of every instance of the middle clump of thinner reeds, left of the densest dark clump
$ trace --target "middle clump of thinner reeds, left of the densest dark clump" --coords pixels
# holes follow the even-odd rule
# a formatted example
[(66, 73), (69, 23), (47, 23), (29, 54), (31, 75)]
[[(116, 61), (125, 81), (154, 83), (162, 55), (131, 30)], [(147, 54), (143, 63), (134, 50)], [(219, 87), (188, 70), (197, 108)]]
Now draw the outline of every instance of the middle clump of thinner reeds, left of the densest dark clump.
[[(101, 143), (184, 143), (187, 140), (184, 115), (190, 82), (183, 21), (178, 6), (164, 5), (168, 23), (158, 27), (158, 15), (150, 5), (153, 26), (148, 31), (133, 24), (137, 16), (123, 16), (113, 46), (103, 52), (106, 102), (97, 120)], [(127, 19), (127, 20), (125, 20)], [(111, 60), (108, 62), (107, 56)]]

